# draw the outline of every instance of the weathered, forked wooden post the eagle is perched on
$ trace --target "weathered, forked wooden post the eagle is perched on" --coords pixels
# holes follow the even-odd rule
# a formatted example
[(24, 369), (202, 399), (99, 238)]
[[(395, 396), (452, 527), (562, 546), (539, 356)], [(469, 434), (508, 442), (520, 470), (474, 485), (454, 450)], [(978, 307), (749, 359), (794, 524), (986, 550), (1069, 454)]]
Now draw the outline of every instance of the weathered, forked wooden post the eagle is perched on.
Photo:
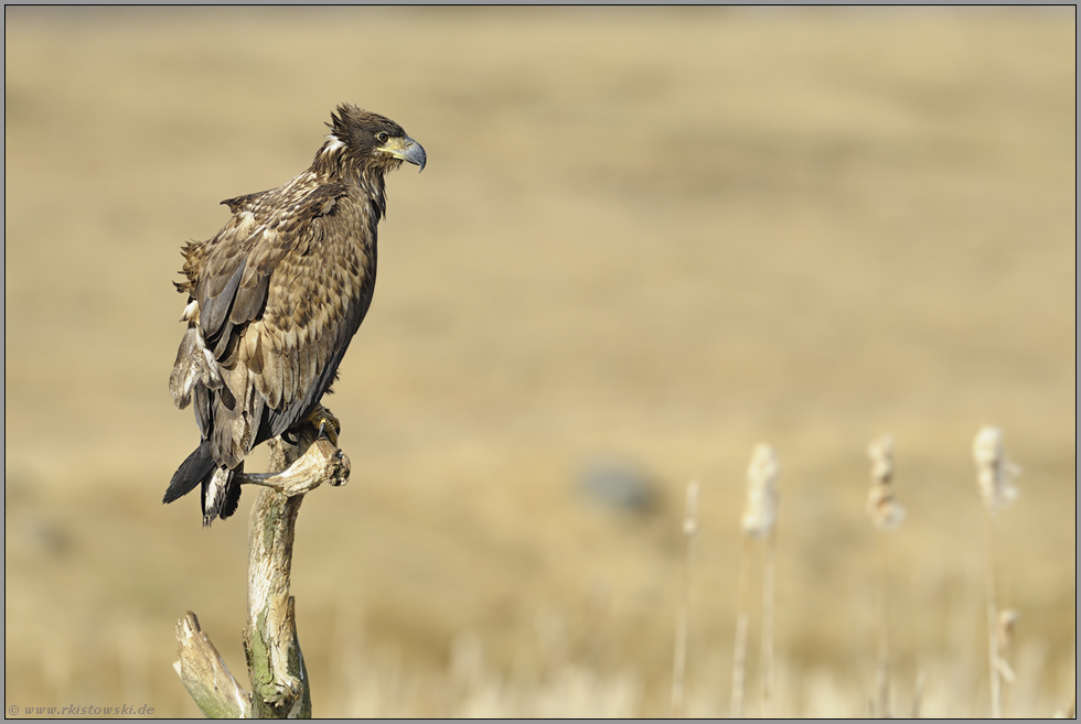
[(251, 693), (244, 691), (195, 614), (176, 623), (180, 659), (173, 664), (200, 711), (220, 718), (311, 718), (311, 690), (289, 595), (297, 514), (306, 493), (349, 480), (345, 454), (311, 425), (291, 445), (271, 440), (269, 473), (243, 475), (263, 486), (248, 520), (248, 625), (244, 652)]

